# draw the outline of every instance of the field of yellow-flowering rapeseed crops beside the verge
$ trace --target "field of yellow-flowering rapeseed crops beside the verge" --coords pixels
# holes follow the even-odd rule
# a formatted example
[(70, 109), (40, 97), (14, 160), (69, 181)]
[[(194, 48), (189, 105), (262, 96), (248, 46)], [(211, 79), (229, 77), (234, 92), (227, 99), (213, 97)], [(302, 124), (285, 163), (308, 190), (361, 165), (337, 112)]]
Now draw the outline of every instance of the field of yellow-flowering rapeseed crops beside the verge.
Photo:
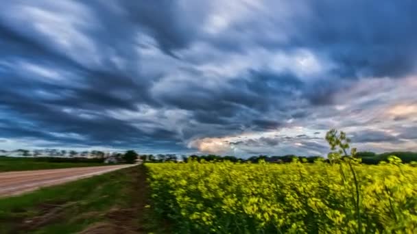
[(178, 233), (417, 233), (417, 168), (396, 160), (145, 166)]

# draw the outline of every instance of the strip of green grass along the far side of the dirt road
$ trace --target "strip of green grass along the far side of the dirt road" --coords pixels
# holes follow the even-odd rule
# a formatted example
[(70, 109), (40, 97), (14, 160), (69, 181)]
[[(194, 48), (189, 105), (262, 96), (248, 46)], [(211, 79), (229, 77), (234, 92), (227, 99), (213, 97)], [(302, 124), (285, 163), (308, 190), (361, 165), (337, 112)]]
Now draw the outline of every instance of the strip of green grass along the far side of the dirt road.
[(22, 157), (0, 157), (0, 172), (10, 172), (18, 170), (43, 170), (43, 169), (59, 169), (59, 168), (79, 168), (86, 166), (106, 166), (103, 163), (68, 163), (68, 162), (48, 162), (35, 161), (34, 158)]

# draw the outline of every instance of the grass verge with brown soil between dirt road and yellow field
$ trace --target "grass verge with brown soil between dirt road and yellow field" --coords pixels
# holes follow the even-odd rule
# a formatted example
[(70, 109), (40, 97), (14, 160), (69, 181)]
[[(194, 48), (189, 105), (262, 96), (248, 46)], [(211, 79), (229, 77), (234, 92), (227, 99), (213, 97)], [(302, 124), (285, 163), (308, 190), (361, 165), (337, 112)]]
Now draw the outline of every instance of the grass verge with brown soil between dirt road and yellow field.
[(141, 233), (143, 170), (134, 166), (1, 198), (0, 233)]

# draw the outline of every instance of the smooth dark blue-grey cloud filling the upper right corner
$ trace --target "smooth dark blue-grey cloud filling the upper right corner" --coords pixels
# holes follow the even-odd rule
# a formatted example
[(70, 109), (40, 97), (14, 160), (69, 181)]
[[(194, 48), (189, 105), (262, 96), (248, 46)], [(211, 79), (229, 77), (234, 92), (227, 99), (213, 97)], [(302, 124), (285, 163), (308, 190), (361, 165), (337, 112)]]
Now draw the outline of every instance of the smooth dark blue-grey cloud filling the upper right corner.
[[(312, 42), (331, 45), (330, 55), (340, 65), (336, 73), (401, 77), (415, 70), (416, 8), (414, 1), (315, 2), (310, 23), (318, 27), (305, 29), (317, 35)], [(351, 12), (355, 16), (346, 21)]]

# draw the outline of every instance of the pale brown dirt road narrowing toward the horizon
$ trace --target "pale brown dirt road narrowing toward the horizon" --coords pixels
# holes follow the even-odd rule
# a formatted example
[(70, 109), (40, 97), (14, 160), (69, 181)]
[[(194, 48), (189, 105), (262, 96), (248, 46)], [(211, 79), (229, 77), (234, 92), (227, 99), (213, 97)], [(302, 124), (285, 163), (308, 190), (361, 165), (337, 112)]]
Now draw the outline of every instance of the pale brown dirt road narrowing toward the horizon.
[(36, 190), (40, 187), (75, 181), (135, 165), (92, 166), (53, 170), (27, 170), (0, 173), (0, 197)]

